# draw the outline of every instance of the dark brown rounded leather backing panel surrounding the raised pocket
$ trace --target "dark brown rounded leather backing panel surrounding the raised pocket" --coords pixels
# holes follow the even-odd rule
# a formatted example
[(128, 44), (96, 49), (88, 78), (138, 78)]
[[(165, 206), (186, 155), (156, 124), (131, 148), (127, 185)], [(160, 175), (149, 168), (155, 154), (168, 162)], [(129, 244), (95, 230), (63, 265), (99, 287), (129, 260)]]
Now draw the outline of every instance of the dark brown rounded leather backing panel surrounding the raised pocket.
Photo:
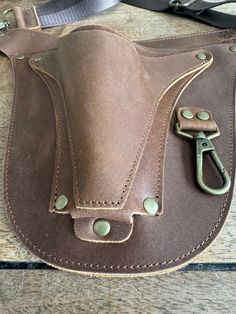
[[(70, 215), (49, 212), (56, 152), (55, 112), (47, 86), (28, 60), (35, 52), (55, 49), (57, 39), (22, 30), (1, 38), (0, 49), (12, 59), (16, 82), (5, 159), (5, 200), (15, 232), (32, 253), (70, 271), (132, 276), (176, 269), (212, 243), (227, 217), (234, 183), (236, 54), (229, 50), (233, 40), (234, 33), (226, 31), (194, 37), (193, 48), (188, 46), (189, 38), (136, 44), (148, 51), (152, 45), (157, 55), (172, 55), (177, 48), (181, 53), (193, 50), (194, 55), (198, 46), (210, 43), (204, 49), (213, 55), (212, 65), (189, 82), (175, 108), (197, 105), (213, 113), (221, 130), (214, 146), (232, 179), (230, 191), (212, 196), (198, 188), (195, 148), (176, 136), (173, 114), (164, 158), (163, 214), (134, 215), (132, 234), (123, 243), (93, 243), (75, 236)], [(24, 60), (15, 58), (27, 53)], [(209, 185), (221, 183), (208, 160), (205, 177)]]

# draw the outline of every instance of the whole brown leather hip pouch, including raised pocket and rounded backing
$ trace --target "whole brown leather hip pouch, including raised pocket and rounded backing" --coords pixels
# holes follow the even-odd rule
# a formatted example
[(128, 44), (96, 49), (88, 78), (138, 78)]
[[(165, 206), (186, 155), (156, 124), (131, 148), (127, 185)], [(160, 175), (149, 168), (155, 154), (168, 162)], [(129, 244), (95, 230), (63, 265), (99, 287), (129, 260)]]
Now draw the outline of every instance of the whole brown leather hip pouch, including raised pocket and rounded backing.
[[(132, 275), (178, 267), (214, 240), (233, 184), (212, 196), (194, 183), (195, 148), (176, 136), (173, 112), (212, 112), (221, 130), (214, 146), (233, 182), (235, 35), (132, 43), (91, 26), (59, 39), (29, 30), (0, 38), (16, 80), (5, 199), (33, 253), (73, 271)], [(186, 130), (216, 126), (182, 122)], [(205, 167), (205, 181), (220, 185), (212, 163)], [(59, 195), (69, 200), (62, 211)], [(147, 197), (158, 199), (155, 216)], [(93, 232), (99, 218), (111, 224), (103, 238)]]

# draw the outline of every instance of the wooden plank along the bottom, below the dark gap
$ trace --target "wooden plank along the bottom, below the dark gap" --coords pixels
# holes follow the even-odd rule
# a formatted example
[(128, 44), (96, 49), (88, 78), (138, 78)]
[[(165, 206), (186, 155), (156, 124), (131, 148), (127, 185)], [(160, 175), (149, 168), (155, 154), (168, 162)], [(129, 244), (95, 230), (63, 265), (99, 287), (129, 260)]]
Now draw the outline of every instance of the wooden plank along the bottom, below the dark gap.
[(89, 278), (60, 271), (2, 270), (0, 312), (233, 314), (236, 272)]

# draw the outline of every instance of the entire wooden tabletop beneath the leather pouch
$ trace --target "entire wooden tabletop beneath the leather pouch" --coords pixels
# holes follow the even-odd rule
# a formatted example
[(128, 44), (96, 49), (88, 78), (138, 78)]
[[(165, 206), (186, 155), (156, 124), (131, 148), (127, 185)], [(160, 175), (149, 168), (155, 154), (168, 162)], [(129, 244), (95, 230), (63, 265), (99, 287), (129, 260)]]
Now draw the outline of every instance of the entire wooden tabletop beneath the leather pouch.
[[(40, 1), (1, 1), (29, 5)], [(230, 10), (230, 8), (228, 9)], [(232, 7), (231, 7), (232, 10)], [(236, 14), (236, 8), (234, 8)], [(107, 26), (129, 39), (205, 32), (210, 26), (125, 4), (50, 33), (85, 24)], [(0, 177), (12, 104), (9, 61), (0, 57)], [(146, 278), (94, 278), (44, 268), (11, 231), (0, 180), (0, 313), (236, 313), (236, 194), (217, 240), (184, 270)], [(11, 269), (14, 268), (14, 269)], [(17, 269), (18, 268), (18, 269)], [(19, 269), (20, 268), (20, 269)], [(32, 268), (32, 269), (30, 269)]]

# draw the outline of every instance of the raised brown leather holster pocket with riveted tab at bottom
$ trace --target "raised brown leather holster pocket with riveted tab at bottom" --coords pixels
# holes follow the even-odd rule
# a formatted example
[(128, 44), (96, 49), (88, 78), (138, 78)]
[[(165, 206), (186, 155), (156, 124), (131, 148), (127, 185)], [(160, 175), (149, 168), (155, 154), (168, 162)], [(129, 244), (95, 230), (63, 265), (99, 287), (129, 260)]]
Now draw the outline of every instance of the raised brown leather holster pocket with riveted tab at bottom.
[[(58, 195), (68, 196), (67, 212), (76, 219), (79, 238), (96, 241), (88, 232), (94, 219), (109, 218), (129, 225), (116, 225), (118, 233), (126, 231), (110, 240), (125, 240), (133, 229), (133, 215), (147, 214), (143, 199), (161, 200), (162, 174), (156, 178), (153, 169), (147, 177), (147, 163), (142, 169), (140, 164), (150, 156), (150, 166), (163, 168), (163, 143), (177, 96), (210, 59), (208, 55), (200, 62), (194, 52), (159, 58), (155, 51), (140, 52), (121, 36), (101, 30), (71, 33), (59, 40), (56, 51), (31, 59), (55, 107), (59, 148), (51, 206), (55, 208)], [(157, 130), (163, 129), (162, 134), (158, 131), (162, 141), (157, 136), (156, 150), (144, 154), (149, 138), (155, 138), (153, 121)], [(156, 179), (159, 195), (154, 194)]]

